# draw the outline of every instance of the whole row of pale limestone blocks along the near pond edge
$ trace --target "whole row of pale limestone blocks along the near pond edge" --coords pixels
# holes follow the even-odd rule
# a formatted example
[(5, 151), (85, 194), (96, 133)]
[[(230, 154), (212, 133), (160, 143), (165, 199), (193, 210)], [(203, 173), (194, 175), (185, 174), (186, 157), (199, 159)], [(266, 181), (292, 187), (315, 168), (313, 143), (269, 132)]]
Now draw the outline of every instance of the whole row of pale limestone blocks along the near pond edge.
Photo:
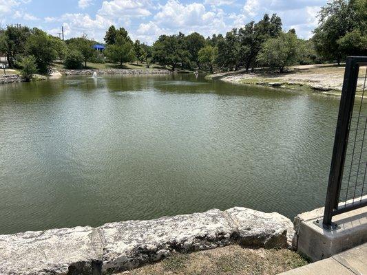
[[(293, 223), (273, 212), (218, 209), (149, 221), (0, 235), (0, 274), (112, 274), (231, 243), (286, 248)], [(289, 239), (288, 239), (289, 241)]]

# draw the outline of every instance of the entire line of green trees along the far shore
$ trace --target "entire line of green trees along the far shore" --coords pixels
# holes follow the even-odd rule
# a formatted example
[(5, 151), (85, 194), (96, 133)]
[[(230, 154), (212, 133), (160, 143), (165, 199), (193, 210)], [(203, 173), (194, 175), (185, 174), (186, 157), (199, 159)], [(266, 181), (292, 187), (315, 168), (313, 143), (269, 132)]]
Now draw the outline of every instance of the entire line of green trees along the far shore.
[(366, 0), (328, 1), (318, 14), (319, 25), (311, 39), (297, 37), (294, 29), (284, 32), (277, 14), (264, 14), (242, 28), (205, 39), (198, 32), (189, 35), (164, 34), (153, 45), (132, 41), (127, 30), (109, 27), (104, 37), (105, 50), (93, 48), (97, 41), (87, 35), (62, 41), (37, 28), (8, 25), (0, 30), (0, 53), (8, 65), (23, 68), (27, 76), (45, 74), (59, 59), (67, 69), (87, 67), (87, 62), (109, 61), (151, 63), (180, 69), (218, 70), (275, 67), (280, 72), (289, 65), (323, 62), (340, 63), (348, 55), (367, 55)]

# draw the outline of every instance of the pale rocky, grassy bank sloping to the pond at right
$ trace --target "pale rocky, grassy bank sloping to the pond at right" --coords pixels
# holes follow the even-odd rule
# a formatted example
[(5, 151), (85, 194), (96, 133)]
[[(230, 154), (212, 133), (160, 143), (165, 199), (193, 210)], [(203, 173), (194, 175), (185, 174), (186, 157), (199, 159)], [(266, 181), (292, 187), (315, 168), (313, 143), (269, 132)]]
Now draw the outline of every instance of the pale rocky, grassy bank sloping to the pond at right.
[[(207, 79), (220, 79), (231, 83), (246, 85), (265, 85), (284, 89), (321, 91), (324, 94), (339, 95), (344, 80), (344, 65), (300, 65), (290, 67), (280, 74), (274, 69), (257, 69), (255, 73), (224, 72), (207, 76)], [(359, 70), (360, 80), (357, 91), (363, 87), (366, 67)], [(360, 94), (360, 92), (357, 92)]]

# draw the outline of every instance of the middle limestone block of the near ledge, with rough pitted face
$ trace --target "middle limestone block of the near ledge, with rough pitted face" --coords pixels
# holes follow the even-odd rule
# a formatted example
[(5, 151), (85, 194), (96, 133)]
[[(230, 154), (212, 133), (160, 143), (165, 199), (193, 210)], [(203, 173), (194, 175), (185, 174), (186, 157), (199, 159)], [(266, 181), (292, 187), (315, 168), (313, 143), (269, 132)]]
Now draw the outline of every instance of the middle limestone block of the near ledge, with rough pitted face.
[(107, 223), (103, 238), (103, 271), (129, 270), (158, 261), (172, 251), (208, 250), (233, 241), (234, 224), (224, 212), (162, 217), (150, 221)]

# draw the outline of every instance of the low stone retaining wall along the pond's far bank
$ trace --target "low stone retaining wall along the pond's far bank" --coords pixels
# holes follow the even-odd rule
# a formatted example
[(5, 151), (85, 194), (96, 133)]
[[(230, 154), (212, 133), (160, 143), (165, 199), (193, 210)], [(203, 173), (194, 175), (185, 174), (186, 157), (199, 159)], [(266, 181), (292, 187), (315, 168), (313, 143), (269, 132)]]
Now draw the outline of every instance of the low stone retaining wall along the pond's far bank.
[(171, 74), (166, 69), (61, 69), (61, 74), (65, 76), (92, 76), (97, 74)]

